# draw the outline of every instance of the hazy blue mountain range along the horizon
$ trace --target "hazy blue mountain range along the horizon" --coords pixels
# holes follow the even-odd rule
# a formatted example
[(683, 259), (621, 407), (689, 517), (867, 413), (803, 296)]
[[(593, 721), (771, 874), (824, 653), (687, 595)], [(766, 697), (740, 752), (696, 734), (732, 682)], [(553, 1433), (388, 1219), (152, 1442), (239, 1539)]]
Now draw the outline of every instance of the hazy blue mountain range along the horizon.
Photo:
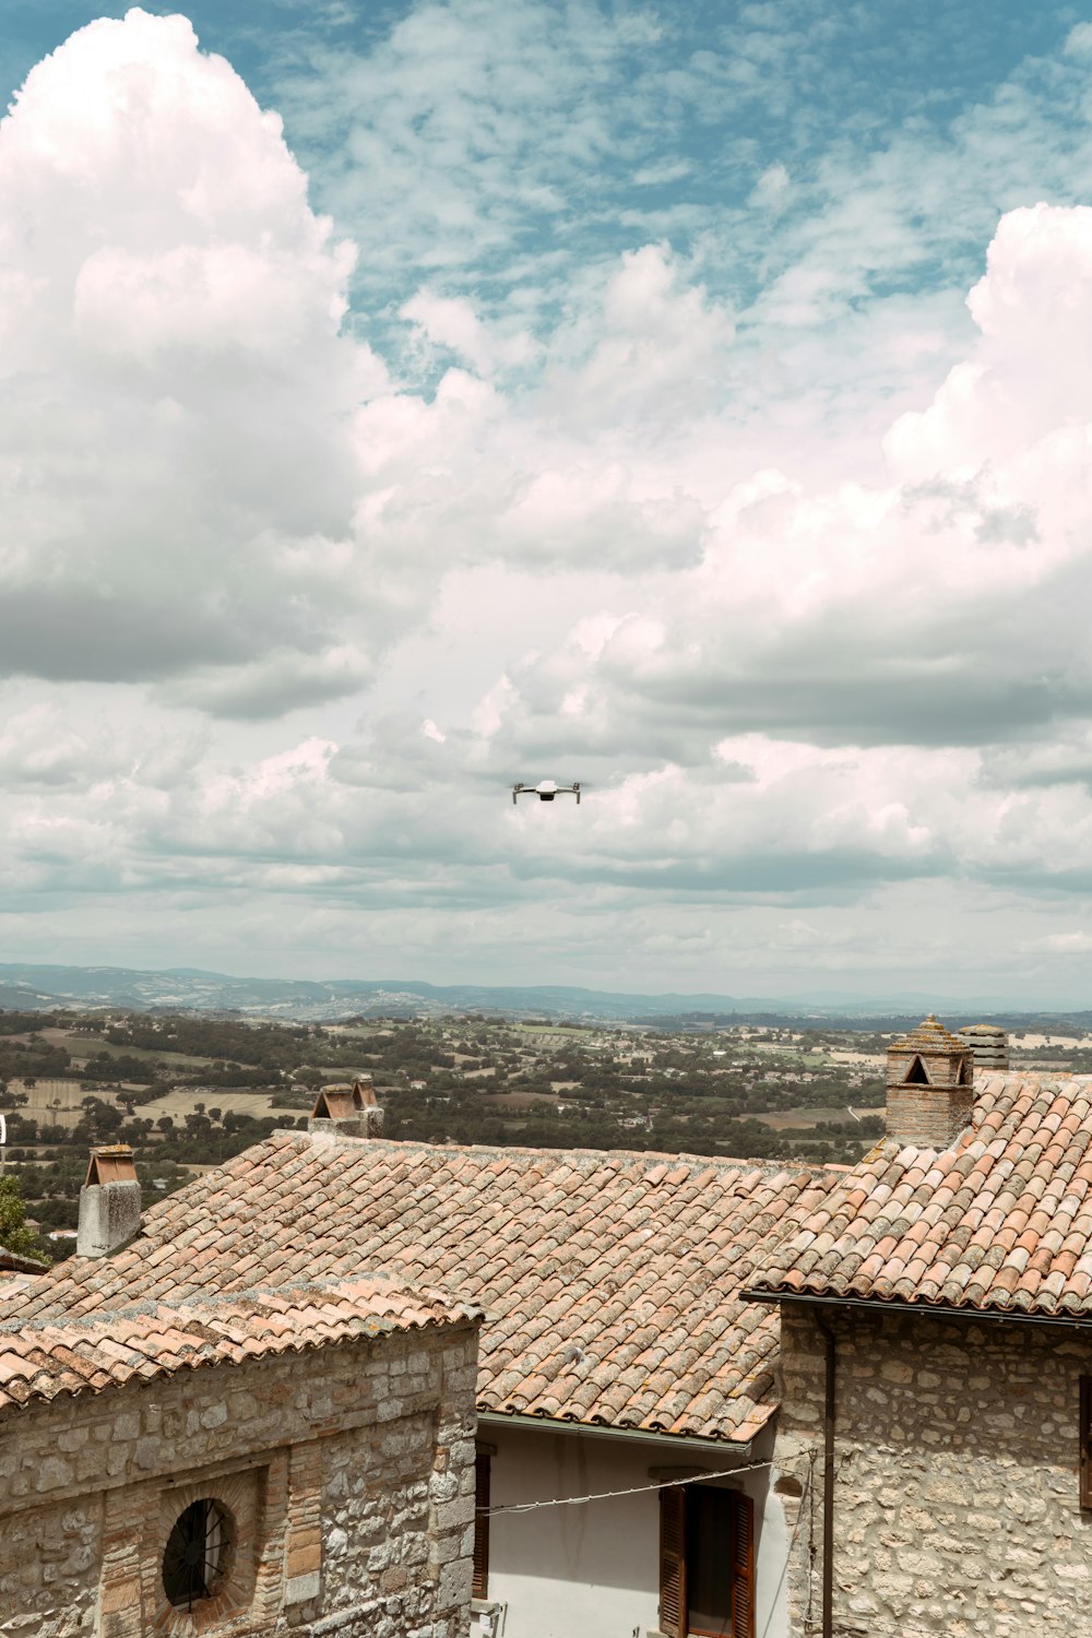
[(581, 989), (566, 984), (427, 984), (421, 980), (329, 981), (282, 978), (229, 978), (200, 968), (141, 971), (128, 966), (34, 966), (0, 963), (0, 1007), (46, 1011), (51, 1007), (116, 1007), (120, 1011), (242, 1012), (249, 1017), (323, 1022), (344, 1017), (440, 1016), (486, 1012), (506, 1017), (550, 1017), (580, 1022), (670, 1022), (756, 1017), (876, 1020), (920, 1019), (938, 1012), (951, 1024), (979, 1017), (1067, 1017), (1089, 1020), (1077, 1007), (1020, 1009), (997, 996), (963, 999), (896, 991), (861, 996), (843, 991), (809, 991), (796, 996), (630, 994)]

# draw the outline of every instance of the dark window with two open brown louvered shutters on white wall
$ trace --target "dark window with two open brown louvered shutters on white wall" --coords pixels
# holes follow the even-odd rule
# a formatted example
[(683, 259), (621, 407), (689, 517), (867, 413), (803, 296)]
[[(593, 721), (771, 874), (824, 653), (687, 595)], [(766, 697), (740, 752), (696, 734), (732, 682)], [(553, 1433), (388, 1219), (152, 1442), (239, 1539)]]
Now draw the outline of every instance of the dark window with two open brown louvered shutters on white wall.
[(755, 1638), (755, 1504), (740, 1491), (660, 1492), (660, 1627), (668, 1638)]

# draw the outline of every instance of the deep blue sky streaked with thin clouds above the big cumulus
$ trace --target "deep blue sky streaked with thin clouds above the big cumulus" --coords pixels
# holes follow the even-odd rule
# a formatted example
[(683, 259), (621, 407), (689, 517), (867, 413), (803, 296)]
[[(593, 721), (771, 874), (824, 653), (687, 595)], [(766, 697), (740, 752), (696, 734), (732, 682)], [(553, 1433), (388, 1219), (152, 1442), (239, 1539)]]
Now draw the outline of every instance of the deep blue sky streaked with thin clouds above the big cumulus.
[[(13, 0), (8, 85), (124, 11)], [(1087, 152), (1085, 75), (1064, 54), (1087, 20), (1074, 5), (232, 0), (185, 15), (285, 118), (313, 203), (362, 246), (370, 319), (422, 265), (494, 311), (521, 290), (563, 305), (573, 267), (661, 236), (747, 311), (824, 215), (837, 226), (850, 183), (891, 192), (892, 175), (905, 197), (845, 247), (845, 298), (950, 290), (981, 269), (999, 213), (1028, 187), (1071, 192)], [(954, 169), (958, 211), (938, 187)]]

